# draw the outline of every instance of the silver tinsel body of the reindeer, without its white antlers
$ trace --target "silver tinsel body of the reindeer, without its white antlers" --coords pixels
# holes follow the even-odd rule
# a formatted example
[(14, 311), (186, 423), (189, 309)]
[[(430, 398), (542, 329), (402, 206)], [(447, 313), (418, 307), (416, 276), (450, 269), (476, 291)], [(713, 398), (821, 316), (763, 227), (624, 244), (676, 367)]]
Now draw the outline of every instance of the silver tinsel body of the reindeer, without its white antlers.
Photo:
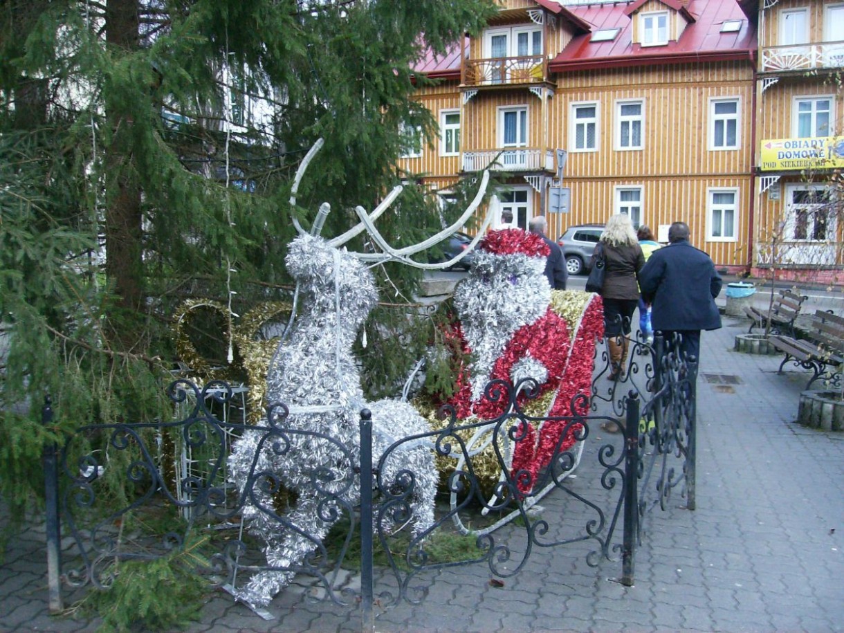
[[(394, 441), (430, 432), (427, 420), (408, 403), (365, 402), (352, 344), (376, 305), (372, 273), (353, 255), (311, 235), (290, 244), (285, 262), (300, 284), (302, 313), (268, 372), (267, 399), (289, 408), (281, 426), (296, 432), (284, 434), (288, 446), (272, 436), (267, 441), (265, 430), (246, 431), (229, 458), (235, 484), (245, 495), (244, 518), (264, 541), (268, 565), (279, 568), (254, 574), (236, 590), (238, 598), (254, 606), (267, 605), (286, 587), (294, 571), (284, 570), (306, 560), (342, 509), (360, 500), (360, 477), (353, 467), (360, 463), (362, 408), (372, 412), (373, 463)], [(414, 475), (411, 510), (413, 533), (419, 536), (434, 522), (438, 473), (430, 441), (408, 441), (393, 449), (381, 466), (381, 490), (400, 488), (403, 471)], [(298, 495), (283, 522), (272, 516), (273, 486), (261, 485), (271, 478)]]

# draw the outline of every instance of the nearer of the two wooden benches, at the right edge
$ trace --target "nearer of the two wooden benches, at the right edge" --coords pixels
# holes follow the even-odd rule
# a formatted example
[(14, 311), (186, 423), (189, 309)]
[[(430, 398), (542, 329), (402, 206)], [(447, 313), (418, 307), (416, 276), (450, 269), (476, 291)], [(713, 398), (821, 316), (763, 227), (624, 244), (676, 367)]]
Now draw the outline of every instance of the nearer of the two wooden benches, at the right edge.
[(820, 377), (840, 386), (841, 367), (844, 365), (844, 317), (833, 312), (816, 311), (809, 322), (806, 336), (809, 339), (784, 334), (775, 334), (769, 338), (771, 344), (785, 354), (776, 373), (782, 374), (782, 368), (791, 361), (794, 365), (813, 371), (806, 384), (807, 390)]

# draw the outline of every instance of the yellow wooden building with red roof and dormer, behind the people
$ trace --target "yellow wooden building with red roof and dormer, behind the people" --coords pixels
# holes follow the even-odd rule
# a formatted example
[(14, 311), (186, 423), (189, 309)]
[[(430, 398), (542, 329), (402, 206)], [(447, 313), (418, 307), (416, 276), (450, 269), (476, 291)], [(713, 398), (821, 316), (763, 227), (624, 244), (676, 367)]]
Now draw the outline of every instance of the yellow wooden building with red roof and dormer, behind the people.
[(626, 213), (664, 240), (679, 219), (719, 267), (756, 268), (782, 212), (760, 195), (773, 177), (760, 141), (790, 138), (775, 101), (820, 81), (762, 89), (771, 14), (736, 0), (504, 0), (481, 34), (419, 62), (439, 80), (418, 92), (439, 134), (403, 167), (444, 195), (489, 165), (506, 172), (495, 213), (522, 226), (544, 214), (552, 238)]

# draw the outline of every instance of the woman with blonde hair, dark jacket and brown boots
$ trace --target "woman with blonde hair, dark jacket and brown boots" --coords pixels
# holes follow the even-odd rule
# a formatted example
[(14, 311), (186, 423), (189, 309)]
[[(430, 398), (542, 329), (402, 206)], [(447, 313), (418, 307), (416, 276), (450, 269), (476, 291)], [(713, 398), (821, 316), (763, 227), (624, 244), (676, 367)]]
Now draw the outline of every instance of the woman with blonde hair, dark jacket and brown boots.
[[(599, 253), (598, 251), (603, 251)], [(636, 231), (626, 214), (616, 214), (604, 227), (598, 246), (592, 252), (592, 266), (597, 257), (604, 259), (603, 298), (604, 333), (609, 348), (612, 371), (610, 380), (619, 380), (625, 375), (627, 360), (627, 338), (630, 322), (639, 303), (637, 278), (645, 265)]]

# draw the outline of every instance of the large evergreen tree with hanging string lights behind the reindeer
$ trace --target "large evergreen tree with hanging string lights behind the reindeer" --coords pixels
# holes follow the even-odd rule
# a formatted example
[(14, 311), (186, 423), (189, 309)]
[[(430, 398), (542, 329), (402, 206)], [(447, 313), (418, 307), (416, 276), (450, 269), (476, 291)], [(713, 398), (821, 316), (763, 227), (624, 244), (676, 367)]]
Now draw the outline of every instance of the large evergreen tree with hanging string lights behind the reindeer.
[[(338, 234), (348, 209), (413, 182), (395, 168), (400, 129), (430, 138), (434, 122), (409, 99), (425, 81), (412, 64), (494, 10), (491, 0), (0, 2), (0, 460), (11, 471), (0, 494), (17, 504), (40, 494), (31, 473), (46, 392), (60, 425), (152, 418), (181, 300), (236, 296), (242, 314), (281, 296), (292, 176), (315, 139), (326, 143), (301, 183), (304, 225), (325, 201), (335, 210), (324, 233)], [(251, 99), (273, 105), (271, 121), (223, 121)], [(422, 194), (406, 192), (381, 219), (388, 240), (440, 227)], [(388, 272), (410, 296), (413, 271)], [(393, 325), (373, 332), (403, 316), (384, 318)], [(408, 349), (384, 361), (399, 347), (371, 353), (377, 389), (404, 371)]]

